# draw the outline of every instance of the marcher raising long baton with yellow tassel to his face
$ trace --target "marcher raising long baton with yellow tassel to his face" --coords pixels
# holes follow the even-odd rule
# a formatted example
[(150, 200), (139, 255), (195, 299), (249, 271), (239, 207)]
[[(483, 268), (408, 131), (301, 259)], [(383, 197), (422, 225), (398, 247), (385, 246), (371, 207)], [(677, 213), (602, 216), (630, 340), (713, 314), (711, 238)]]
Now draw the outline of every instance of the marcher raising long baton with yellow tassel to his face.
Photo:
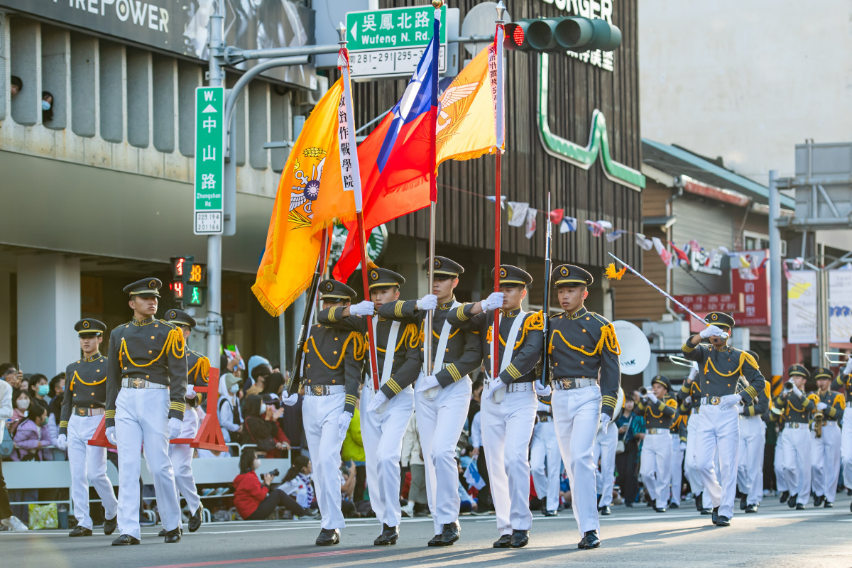
[[(740, 401), (751, 404), (763, 390), (765, 380), (751, 355), (728, 346), (734, 318), (727, 313), (711, 312), (705, 316), (705, 322), (705, 330), (689, 337), (681, 349), (684, 357), (699, 364), (701, 397), (690, 422), (697, 422), (696, 461), (705, 485), (704, 505), (708, 504), (709, 497), (713, 524), (730, 526), (734, 516), (740, 439), (739, 412), (735, 407)], [(710, 340), (711, 347), (701, 345), (702, 339)], [(749, 387), (738, 394), (735, 391), (740, 375), (746, 377)], [(721, 485), (713, 467), (717, 450)]]

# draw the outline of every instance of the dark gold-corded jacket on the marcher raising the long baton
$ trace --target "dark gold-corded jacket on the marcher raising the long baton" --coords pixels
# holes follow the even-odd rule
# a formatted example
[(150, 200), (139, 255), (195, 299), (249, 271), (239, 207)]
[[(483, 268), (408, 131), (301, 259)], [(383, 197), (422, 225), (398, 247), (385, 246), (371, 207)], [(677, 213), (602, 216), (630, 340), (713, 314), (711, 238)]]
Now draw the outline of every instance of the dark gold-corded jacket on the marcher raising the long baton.
[(734, 394), (740, 375), (749, 382), (749, 386), (740, 393), (746, 404), (751, 404), (757, 393), (765, 388), (766, 380), (760, 374), (757, 361), (745, 351), (728, 346), (716, 349), (702, 343), (693, 346), (689, 340), (683, 343), (681, 350), (684, 357), (698, 363), (699, 374), (695, 380), (700, 383), (703, 396)]

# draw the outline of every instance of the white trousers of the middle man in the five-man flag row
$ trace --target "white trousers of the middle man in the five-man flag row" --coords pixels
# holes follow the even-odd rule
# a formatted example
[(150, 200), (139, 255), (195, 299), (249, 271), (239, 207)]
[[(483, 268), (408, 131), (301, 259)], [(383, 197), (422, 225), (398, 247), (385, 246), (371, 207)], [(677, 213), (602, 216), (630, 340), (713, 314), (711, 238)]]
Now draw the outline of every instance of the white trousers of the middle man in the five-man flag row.
[[(417, 434), (426, 469), (426, 496), (436, 535), (444, 531), (443, 525), (458, 520), (462, 500), (458, 496), (456, 445), (468, 418), (471, 390), (470, 377), (463, 376), (452, 385), (438, 387), (434, 399), (426, 398), (429, 391), (414, 393)], [(482, 430), (483, 438), (490, 435), (485, 433), (485, 427)]]

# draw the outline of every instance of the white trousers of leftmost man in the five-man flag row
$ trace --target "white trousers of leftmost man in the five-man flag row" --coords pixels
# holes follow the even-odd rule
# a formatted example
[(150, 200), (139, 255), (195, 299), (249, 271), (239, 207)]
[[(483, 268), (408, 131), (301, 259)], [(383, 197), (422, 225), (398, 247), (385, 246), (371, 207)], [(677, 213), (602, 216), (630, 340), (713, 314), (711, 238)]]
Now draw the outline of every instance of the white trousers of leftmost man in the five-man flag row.
[(346, 522), (340, 510), (340, 441), (337, 421), (343, 414), (345, 393), (306, 395), (302, 401), (302, 426), (314, 473), (314, 490), (324, 529), (343, 529)]

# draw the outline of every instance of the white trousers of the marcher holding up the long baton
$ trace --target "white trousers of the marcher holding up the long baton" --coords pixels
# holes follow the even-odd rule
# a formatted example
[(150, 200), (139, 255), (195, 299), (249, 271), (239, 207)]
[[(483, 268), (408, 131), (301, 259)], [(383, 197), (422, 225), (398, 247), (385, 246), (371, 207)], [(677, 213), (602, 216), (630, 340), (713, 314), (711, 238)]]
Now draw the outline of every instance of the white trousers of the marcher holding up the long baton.
[[(695, 460), (704, 482), (703, 504), (719, 508), (720, 517), (734, 517), (737, 492), (737, 453), (740, 449), (740, 418), (736, 407), (722, 410), (714, 404), (702, 404), (695, 436)], [(648, 440), (648, 437), (645, 437)], [(719, 452), (719, 476), (714, 471)]]

